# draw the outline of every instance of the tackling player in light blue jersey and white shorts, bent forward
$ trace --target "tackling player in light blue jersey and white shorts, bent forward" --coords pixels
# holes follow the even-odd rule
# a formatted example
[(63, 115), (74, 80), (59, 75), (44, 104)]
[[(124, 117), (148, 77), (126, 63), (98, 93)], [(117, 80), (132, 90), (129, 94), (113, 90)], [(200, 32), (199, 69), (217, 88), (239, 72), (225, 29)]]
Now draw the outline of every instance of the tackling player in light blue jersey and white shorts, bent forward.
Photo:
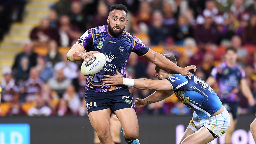
[[(177, 63), (173, 55), (163, 55)], [(123, 78), (116, 71), (116, 76), (105, 75), (108, 78), (103, 79), (103, 82), (107, 86), (123, 84), (138, 89), (156, 90), (144, 99), (137, 99), (136, 108), (161, 101), (175, 93), (180, 102), (194, 110), (181, 144), (206, 144), (225, 133), (230, 121), (228, 111), (205, 81), (194, 74), (183, 76), (158, 66), (155, 70), (155, 76), (159, 80)]]

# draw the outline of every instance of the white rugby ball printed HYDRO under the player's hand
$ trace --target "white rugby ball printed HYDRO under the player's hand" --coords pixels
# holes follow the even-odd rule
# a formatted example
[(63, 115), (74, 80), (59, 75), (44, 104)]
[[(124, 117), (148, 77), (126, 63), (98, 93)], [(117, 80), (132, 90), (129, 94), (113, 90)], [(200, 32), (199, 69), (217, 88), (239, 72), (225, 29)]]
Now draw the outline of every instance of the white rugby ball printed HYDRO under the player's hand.
[(81, 66), (81, 72), (85, 76), (92, 76), (98, 73), (106, 63), (106, 56), (103, 53), (94, 53), (95, 58), (90, 56), (92, 59), (86, 58)]

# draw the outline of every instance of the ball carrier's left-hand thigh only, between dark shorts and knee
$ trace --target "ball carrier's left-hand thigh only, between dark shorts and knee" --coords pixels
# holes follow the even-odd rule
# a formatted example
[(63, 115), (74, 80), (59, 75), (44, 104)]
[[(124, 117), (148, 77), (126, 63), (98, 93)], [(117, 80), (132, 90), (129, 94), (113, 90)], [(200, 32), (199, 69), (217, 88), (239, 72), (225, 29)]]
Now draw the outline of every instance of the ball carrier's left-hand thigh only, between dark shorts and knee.
[(94, 130), (99, 135), (110, 135), (110, 109), (92, 111), (88, 117)]

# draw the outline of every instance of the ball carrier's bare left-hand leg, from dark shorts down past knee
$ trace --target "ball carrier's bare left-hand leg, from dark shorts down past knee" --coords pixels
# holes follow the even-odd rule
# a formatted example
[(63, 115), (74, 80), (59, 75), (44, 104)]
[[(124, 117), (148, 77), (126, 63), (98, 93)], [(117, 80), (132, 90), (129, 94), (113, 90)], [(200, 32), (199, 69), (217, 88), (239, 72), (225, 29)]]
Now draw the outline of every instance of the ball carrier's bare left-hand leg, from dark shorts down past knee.
[(92, 111), (89, 119), (101, 144), (115, 144), (110, 134), (110, 109)]

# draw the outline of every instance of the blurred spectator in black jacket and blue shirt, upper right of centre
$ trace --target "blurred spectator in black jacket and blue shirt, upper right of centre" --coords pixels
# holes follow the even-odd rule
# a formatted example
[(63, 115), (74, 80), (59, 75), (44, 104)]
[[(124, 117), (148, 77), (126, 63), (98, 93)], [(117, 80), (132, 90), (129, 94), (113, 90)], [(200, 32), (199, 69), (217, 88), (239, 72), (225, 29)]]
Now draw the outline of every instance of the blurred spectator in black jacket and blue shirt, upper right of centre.
[(174, 29), (174, 40), (178, 45), (183, 45), (187, 37), (193, 36), (193, 28), (189, 25), (188, 19), (184, 15), (178, 18), (178, 24)]

